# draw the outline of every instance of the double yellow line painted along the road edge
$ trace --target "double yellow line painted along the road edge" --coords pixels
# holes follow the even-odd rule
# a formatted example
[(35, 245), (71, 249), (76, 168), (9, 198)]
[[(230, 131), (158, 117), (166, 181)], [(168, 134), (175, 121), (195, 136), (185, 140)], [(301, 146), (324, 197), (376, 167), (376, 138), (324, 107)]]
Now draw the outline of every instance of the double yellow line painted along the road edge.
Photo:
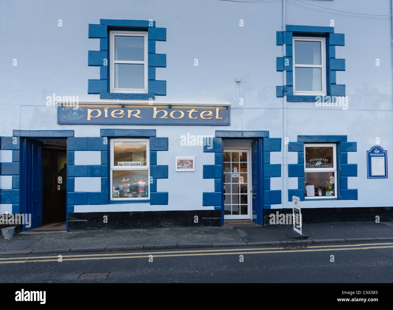
[[(181, 256), (205, 256), (205, 255), (240, 255), (240, 254), (263, 254), (263, 253), (292, 253), (292, 252), (322, 252), (322, 251), (346, 251), (346, 250), (369, 250), (380, 248), (393, 248), (393, 243), (364, 243), (349, 245), (323, 245), (304, 247), (277, 247), (277, 248), (243, 248), (243, 249), (218, 249), (218, 250), (181, 250), (165, 252), (139, 252), (139, 253), (105, 253), (105, 254), (79, 254), (61, 255), (62, 261), (85, 261), (97, 259), (124, 259), (124, 258), (147, 258), (153, 257), (181, 257)], [(37, 263), (57, 262), (59, 255), (55, 256), (25, 256), (0, 258), (0, 264), (11, 263)]]

